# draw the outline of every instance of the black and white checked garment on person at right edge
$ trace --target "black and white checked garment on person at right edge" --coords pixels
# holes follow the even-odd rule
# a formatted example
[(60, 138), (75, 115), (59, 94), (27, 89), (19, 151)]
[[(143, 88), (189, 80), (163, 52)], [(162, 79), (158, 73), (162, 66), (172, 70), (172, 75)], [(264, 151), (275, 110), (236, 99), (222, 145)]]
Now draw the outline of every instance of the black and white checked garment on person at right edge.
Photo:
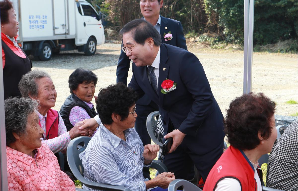
[(266, 187), (297, 191), (298, 123), (292, 122), (276, 141), (268, 158)]

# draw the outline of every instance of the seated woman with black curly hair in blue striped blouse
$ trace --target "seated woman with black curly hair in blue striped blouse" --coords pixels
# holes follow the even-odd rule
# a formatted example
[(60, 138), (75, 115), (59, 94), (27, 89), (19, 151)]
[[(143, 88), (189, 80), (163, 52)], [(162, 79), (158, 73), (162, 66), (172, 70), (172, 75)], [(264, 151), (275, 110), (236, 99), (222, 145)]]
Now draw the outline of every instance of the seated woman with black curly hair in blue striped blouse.
[(133, 128), (138, 116), (136, 100), (136, 92), (123, 83), (101, 89), (96, 109), (102, 123), (82, 155), (84, 176), (90, 181), (123, 186), (132, 191), (167, 190), (175, 179), (172, 172), (145, 181), (143, 167), (150, 167), (159, 146), (144, 147)]

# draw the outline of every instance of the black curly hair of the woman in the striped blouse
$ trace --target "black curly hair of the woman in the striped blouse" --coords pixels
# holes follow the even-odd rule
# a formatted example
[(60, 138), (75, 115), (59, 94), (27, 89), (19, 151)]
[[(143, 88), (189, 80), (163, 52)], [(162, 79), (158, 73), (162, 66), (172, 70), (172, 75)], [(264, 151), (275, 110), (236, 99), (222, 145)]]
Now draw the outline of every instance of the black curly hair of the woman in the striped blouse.
[(96, 110), (103, 124), (113, 123), (112, 113), (120, 115), (121, 121), (128, 117), (129, 108), (138, 99), (137, 93), (123, 83), (100, 89), (96, 100)]

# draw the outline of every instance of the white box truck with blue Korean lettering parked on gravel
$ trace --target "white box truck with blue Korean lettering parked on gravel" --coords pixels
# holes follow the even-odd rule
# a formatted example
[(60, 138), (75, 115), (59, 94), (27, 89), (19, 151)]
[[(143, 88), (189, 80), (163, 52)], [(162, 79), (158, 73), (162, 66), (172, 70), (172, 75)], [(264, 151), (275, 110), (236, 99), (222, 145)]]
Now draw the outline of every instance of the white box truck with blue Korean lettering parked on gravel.
[(78, 50), (93, 55), (105, 43), (101, 13), (85, 0), (13, 0), (17, 41), (27, 55), (49, 60), (53, 53)]

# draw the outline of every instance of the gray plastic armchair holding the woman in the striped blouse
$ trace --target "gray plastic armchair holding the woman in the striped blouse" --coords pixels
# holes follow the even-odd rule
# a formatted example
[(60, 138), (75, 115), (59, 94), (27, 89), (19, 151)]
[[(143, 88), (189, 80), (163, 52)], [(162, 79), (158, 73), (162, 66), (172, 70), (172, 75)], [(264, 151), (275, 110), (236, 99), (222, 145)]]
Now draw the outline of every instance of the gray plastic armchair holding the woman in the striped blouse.
[[(69, 164), (69, 168), (75, 177), (82, 182), (88, 188), (93, 189), (100, 189), (100, 190), (123, 190), (123, 191), (131, 191), (126, 187), (121, 186), (114, 186), (109, 184), (101, 184), (98, 182), (89, 181), (84, 177), (84, 167), (82, 165), (81, 154), (85, 151), (89, 141), (91, 140), (90, 137), (81, 136), (74, 138), (68, 144), (66, 155), (67, 155), (67, 162)], [(79, 143), (84, 144), (83, 147), (77, 147)], [(100, 161), (98, 161), (100, 162)], [(152, 161), (152, 168), (155, 168), (159, 172), (168, 172), (167, 167), (160, 161)]]

